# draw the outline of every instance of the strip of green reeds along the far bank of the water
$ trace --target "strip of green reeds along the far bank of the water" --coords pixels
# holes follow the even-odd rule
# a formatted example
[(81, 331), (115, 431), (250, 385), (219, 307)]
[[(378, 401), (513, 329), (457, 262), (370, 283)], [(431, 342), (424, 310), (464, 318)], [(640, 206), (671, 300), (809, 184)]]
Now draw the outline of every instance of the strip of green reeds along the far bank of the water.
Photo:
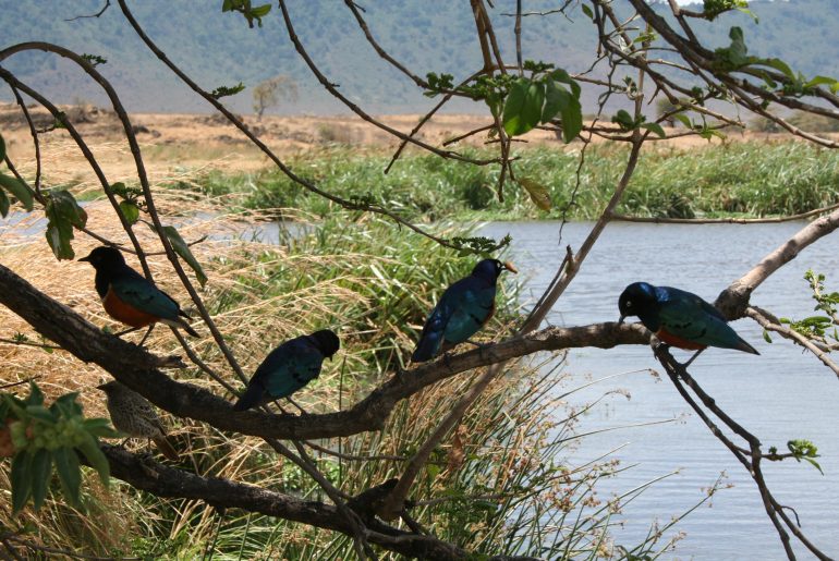
[[(485, 154), (486, 156), (486, 154)], [(332, 147), (290, 161), (304, 178), (345, 198), (366, 197), (412, 220), (472, 218), (549, 219), (568, 209), (575, 220), (598, 216), (611, 195), (628, 156), (625, 146), (600, 144), (586, 153), (575, 204), (579, 153), (555, 148), (523, 150), (519, 178), (535, 180), (550, 192), (552, 209), (543, 211), (519, 185), (508, 183), (504, 199), (495, 194), (498, 167), (475, 167), (437, 156), (403, 156), (389, 174), (390, 154)], [(326, 216), (333, 206), (311, 195), (284, 175), (209, 174), (199, 187), (230, 196), (242, 208), (297, 208)], [(194, 184), (190, 186), (194, 188)], [(803, 143), (730, 143), (704, 148), (650, 146), (643, 153), (619, 212), (646, 217), (764, 217), (790, 215), (839, 199), (839, 154)]]

